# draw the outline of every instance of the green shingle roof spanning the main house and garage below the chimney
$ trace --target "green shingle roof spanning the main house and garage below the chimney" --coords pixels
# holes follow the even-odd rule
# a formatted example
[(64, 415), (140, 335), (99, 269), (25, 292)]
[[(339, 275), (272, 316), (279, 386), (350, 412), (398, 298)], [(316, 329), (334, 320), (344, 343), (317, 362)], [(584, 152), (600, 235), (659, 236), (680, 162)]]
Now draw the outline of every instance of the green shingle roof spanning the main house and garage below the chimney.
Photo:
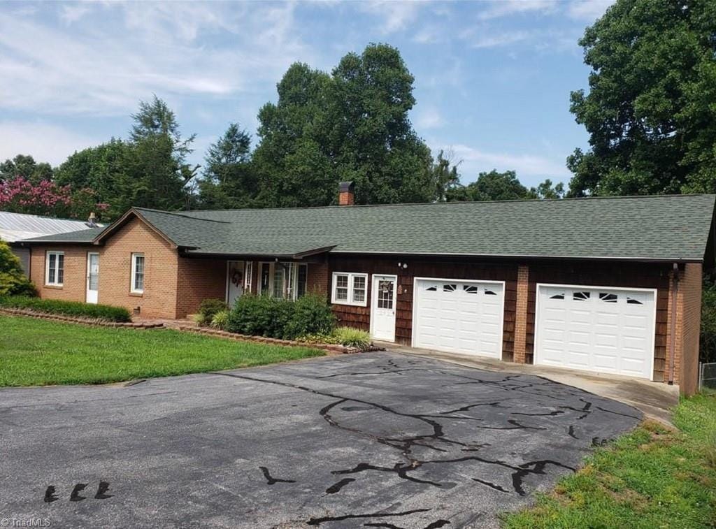
[[(189, 253), (331, 253), (701, 261), (715, 195), (207, 210), (136, 208)], [(84, 233), (84, 232), (77, 232)]]

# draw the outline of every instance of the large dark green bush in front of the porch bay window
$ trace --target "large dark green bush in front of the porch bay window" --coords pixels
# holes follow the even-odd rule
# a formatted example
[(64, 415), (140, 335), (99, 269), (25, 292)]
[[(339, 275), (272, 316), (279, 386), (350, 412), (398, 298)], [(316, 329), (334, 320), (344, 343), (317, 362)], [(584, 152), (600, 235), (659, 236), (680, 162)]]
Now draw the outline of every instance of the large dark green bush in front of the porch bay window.
[(304, 296), (298, 301), (244, 294), (228, 316), (226, 330), (252, 336), (294, 339), (304, 334), (324, 334), (333, 330), (331, 307), (320, 296)]

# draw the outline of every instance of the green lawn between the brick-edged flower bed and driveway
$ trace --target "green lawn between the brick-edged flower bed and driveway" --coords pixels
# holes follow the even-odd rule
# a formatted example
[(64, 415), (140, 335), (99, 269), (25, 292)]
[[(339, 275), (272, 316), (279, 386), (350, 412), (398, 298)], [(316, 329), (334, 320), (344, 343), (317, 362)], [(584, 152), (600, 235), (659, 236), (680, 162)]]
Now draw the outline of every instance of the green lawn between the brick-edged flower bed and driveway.
[(0, 387), (104, 384), (322, 356), (304, 347), (0, 316)]

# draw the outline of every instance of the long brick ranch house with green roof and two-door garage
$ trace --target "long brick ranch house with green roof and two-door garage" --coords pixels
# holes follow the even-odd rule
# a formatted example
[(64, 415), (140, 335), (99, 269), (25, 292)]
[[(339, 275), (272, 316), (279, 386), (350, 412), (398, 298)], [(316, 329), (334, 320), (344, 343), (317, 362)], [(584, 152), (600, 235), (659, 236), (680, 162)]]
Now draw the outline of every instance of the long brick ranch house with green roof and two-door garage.
[(21, 241), (46, 298), (184, 318), (326, 296), (374, 339), (697, 384), (714, 195), (169, 212)]

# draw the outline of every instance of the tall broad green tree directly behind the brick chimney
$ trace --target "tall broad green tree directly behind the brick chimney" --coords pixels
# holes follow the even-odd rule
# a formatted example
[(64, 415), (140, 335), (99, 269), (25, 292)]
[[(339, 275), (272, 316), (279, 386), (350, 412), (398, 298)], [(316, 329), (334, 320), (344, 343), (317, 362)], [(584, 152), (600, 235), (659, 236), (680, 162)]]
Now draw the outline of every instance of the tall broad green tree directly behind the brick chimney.
[(293, 64), (258, 114), (258, 203), (326, 205), (341, 180), (357, 203), (435, 199), (430, 150), (412, 129), (413, 77), (397, 49), (371, 44), (332, 74)]

